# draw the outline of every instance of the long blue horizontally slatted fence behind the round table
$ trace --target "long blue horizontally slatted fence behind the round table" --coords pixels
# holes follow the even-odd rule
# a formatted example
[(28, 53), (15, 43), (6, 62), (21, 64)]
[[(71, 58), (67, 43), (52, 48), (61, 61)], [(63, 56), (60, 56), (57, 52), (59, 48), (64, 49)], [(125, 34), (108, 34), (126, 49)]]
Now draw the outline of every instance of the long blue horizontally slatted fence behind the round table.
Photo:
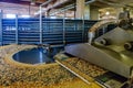
[[(88, 30), (96, 21), (70, 19), (1, 19), (1, 45), (6, 44), (70, 44), (88, 42)], [(40, 37), (40, 34), (42, 36)]]

